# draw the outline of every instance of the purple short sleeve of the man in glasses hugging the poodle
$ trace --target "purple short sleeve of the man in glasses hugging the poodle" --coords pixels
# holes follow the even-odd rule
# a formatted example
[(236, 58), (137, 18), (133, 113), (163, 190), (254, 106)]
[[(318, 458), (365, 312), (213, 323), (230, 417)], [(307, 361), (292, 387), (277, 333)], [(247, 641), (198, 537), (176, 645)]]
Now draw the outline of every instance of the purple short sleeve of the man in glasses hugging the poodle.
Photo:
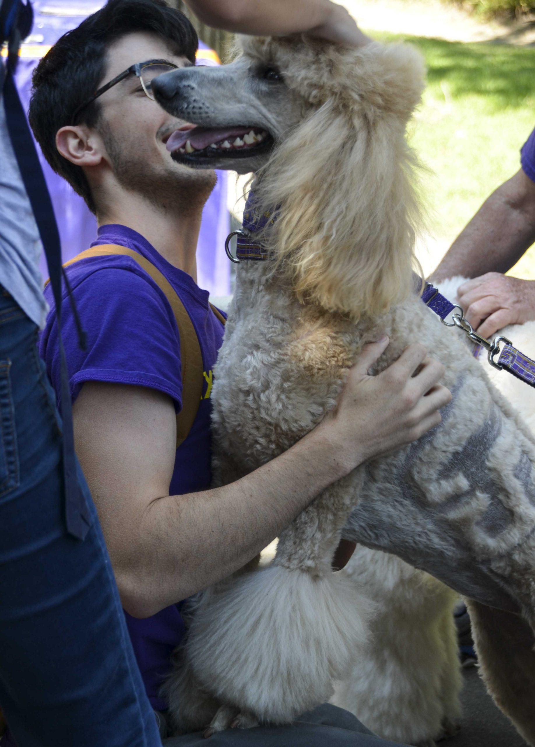
[[(180, 410), (178, 329), (160, 289), (136, 272), (109, 267), (85, 277), (73, 288), (73, 296), (87, 346), (86, 350), (79, 347), (72, 306), (64, 300), (63, 344), (72, 401), (84, 382), (103, 381), (163, 391)], [(60, 356), (53, 309), (40, 338), (40, 355), (59, 402)]]

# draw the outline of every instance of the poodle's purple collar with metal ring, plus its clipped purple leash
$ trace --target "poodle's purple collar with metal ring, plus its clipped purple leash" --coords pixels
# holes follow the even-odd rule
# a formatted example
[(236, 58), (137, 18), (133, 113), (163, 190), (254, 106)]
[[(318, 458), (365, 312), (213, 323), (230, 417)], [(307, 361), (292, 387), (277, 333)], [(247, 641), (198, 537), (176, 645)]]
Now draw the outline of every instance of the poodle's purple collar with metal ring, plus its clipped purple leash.
[[(254, 239), (254, 234), (260, 231), (260, 229), (265, 228), (268, 223), (274, 223), (275, 217), (269, 212), (260, 214), (254, 208), (253, 192), (252, 190), (249, 191), (247, 204), (243, 213), (242, 229), (240, 231), (233, 231), (228, 235), (227, 241), (225, 241), (225, 252), (227, 252), (228, 258), (236, 264), (239, 264), (244, 259), (260, 261), (270, 259), (269, 252), (262, 247), (259, 241)], [(234, 236), (237, 237), (236, 256), (231, 252), (231, 239)], [(509, 371), (517, 379), (535, 387), (535, 361), (532, 361), (531, 358), (516, 350), (516, 347), (513, 347), (510, 340), (507, 340), (506, 337), (487, 340), (485, 337), (478, 335), (478, 332), (475, 332), (472, 329), (472, 325), (464, 318), (463, 309), (457, 303), (448, 301), (431, 283), (426, 282), (424, 292), (422, 293), (422, 301), (425, 303), (425, 306), (428, 306), (431, 311), (434, 311), (440, 317), (442, 324), (445, 324), (445, 326), (456, 326), (468, 335), (476, 346), (474, 351), (476, 358), (478, 358), (479, 353), (484, 348), (488, 353), (489, 364), (491, 366), (498, 368), (500, 371)], [(457, 311), (452, 314), (451, 321), (446, 321), (446, 318), (455, 309)], [(504, 343), (504, 347), (500, 350), (501, 343)], [(498, 356), (498, 360), (495, 360), (496, 356)]]

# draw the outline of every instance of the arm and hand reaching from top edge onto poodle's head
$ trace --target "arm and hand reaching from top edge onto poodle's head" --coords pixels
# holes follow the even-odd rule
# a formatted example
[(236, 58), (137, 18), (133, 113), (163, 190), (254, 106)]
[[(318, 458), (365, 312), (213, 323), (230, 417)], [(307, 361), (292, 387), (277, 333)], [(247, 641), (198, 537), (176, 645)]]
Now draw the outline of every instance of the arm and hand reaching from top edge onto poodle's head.
[(186, 0), (207, 25), (260, 36), (307, 33), (345, 46), (370, 40), (341, 5), (329, 0)]

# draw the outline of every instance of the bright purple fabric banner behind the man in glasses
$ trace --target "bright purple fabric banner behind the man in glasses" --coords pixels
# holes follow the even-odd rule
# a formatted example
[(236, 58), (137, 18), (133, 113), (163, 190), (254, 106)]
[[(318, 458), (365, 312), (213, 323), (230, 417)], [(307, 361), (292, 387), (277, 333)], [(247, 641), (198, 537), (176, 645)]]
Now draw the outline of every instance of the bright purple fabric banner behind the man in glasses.
[[(31, 74), (40, 58), (56, 40), (84, 18), (98, 10), (102, 0), (34, 0), (34, 28), (21, 49), (16, 71), (16, 84), (25, 110), (31, 94)], [(203, 57), (203, 51), (206, 51)], [(199, 43), (198, 62), (217, 65), (215, 55), (205, 44)], [(36, 143), (37, 145), (37, 143)], [(63, 261), (88, 249), (96, 238), (96, 220), (85, 202), (64, 179), (57, 176), (41, 154), (41, 165), (49, 187), (57, 226), (60, 231)], [(214, 296), (231, 292), (231, 269), (225, 255), (225, 238), (230, 230), (227, 209), (228, 174), (217, 172), (217, 184), (204, 207), (201, 232), (198, 238), (198, 285)], [(44, 255), (41, 258), (43, 277), (48, 276)]]

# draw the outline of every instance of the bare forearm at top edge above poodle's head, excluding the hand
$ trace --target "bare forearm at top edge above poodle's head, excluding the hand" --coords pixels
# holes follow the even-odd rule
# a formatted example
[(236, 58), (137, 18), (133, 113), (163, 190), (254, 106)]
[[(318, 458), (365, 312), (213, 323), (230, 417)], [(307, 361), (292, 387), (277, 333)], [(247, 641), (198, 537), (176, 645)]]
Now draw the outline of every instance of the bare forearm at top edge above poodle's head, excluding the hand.
[(284, 36), (328, 22), (328, 0), (186, 0), (207, 25), (243, 34)]

